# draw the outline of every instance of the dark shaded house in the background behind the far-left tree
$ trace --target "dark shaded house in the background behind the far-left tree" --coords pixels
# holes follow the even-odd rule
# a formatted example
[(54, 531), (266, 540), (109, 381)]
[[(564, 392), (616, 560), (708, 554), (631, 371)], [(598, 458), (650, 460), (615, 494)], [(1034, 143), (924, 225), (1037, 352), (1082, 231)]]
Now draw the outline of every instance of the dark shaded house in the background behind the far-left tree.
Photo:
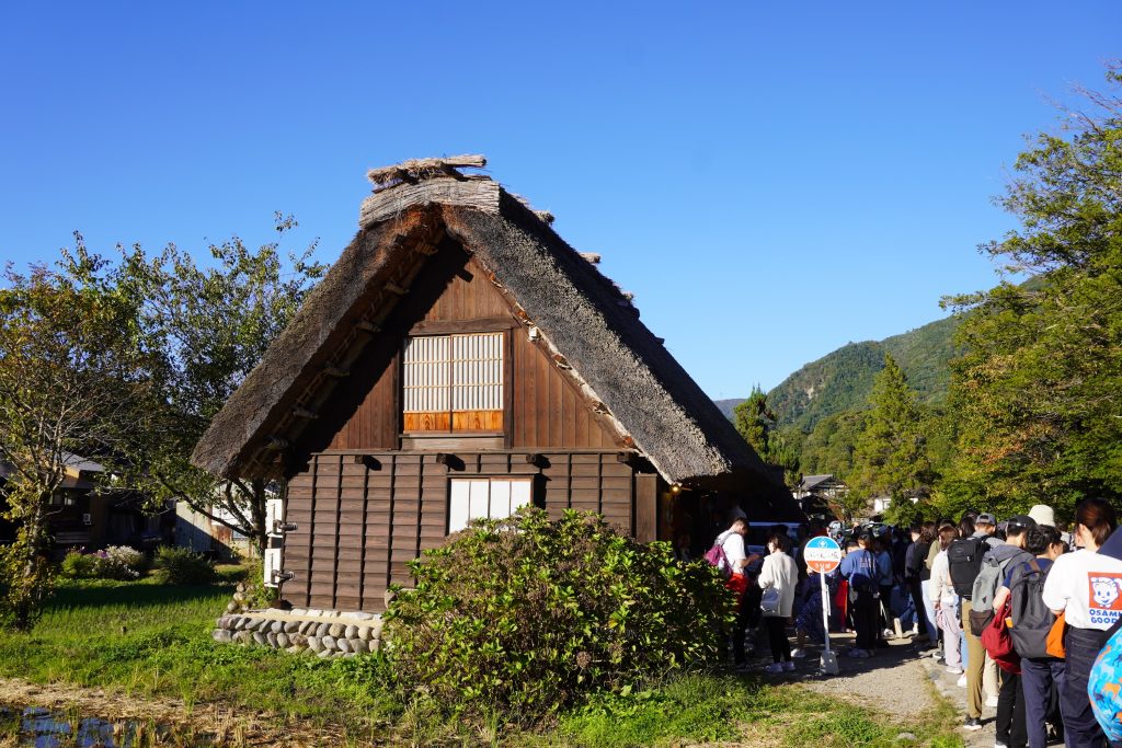
[[(171, 543), (174, 516), (169, 508), (146, 511), (145, 497), (136, 491), (105, 488), (100, 477), (105, 472), (100, 463), (76, 454), (64, 455), (66, 477), (50, 497), (48, 523), (54, 553), (70, 548), (95, 551), (110, 545), (128, 545), (153, 550)], [(3, 483), (11, 465), (0, 463), (0, 511), (6, 502)], [(15, 539), (16, 528), (0, 520), (0, 543)]]

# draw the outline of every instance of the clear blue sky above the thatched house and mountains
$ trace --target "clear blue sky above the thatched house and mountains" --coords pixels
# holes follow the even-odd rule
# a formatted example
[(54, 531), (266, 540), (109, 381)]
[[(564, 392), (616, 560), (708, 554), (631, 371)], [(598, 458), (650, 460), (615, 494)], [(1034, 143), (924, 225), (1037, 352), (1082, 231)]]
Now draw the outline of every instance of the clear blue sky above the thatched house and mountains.
[(277, 210), (332, 260), (367, 168), (482, 153), (744, 396), (993, 285), (991, 197), (1120, 29), (1105, 0), (4, 3), (0, 260), (259, 243)]

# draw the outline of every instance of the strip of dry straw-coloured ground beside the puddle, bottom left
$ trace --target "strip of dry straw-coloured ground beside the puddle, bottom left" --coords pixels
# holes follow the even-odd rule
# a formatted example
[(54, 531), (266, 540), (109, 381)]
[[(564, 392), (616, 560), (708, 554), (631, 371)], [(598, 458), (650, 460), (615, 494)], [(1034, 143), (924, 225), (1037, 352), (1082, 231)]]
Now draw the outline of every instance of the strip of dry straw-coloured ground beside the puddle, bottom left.
[(177, 699), (134, 698), (64, 684), (38, 685), (20, 678), (0, 678), (0, 705), (22, 709), (42, 707), (53, 712), (77, 712), (109, 722), (134, 720), (154, 722), (183, 732), (201, 736), (218, 746), (304, 746), (342, 745), (343, 736), (333, 735), (322, 726), (302, 726), (285, 721), (277, 714), (232, 709), (221, 704), (196, 704), (188, 708)]

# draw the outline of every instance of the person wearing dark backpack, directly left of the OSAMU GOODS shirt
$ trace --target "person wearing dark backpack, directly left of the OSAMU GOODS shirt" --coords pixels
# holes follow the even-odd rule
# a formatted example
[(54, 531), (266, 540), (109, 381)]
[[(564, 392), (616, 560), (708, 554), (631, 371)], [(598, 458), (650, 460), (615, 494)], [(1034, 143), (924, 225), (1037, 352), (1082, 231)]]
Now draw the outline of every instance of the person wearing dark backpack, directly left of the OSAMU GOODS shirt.
[(1004, 584), (993, 599), (993, 609), (1000, 611), (1006, 600), (1011, 603), (1013, 626), (1010, 634), (1013, 647), (1021, 655), (1021, 698), (1029, 748), (1045, 748), (1052, 689), (1064, 682), (1064, 661), (1043, 652), (1049, 620), (1055, 616), (1045, 606), (1042, 591), (1052, 562), (1064, 553), (1064, 541), (1055, 527), (1038, 526), (1026, 533), (1024, 550), (1034, 556), (1033, 562), (1009, 569)]

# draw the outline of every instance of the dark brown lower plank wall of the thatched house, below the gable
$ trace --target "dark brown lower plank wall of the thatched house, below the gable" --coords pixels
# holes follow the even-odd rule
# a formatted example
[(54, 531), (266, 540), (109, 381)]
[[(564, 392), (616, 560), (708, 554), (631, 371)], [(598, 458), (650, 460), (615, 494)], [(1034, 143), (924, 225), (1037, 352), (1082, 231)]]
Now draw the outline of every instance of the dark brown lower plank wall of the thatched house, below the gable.
[(296, 529), (285, 537), (282, 565), (295, 576), (282, 594), (294, 606), (385, 610), (386, 588), (411, 584), (408, 562), (445, 537), (453, 478), (532, 475), (533, 500), (551, 517), (565, 508), (598, 511), (625, 533), (653, 539), (642, 535), (654, 518), (636, 517), (634, 497), (636, 482), (653, 488), (654, 477), (636, 475), (616, 451), (548, 452), (537, 464), (517, 450), (459, 454), (462, 470), (435, 454), (368, 454), (378, 469), (356, 461), (353, 451), (330, 451), (289, 481), (286, 520)]

